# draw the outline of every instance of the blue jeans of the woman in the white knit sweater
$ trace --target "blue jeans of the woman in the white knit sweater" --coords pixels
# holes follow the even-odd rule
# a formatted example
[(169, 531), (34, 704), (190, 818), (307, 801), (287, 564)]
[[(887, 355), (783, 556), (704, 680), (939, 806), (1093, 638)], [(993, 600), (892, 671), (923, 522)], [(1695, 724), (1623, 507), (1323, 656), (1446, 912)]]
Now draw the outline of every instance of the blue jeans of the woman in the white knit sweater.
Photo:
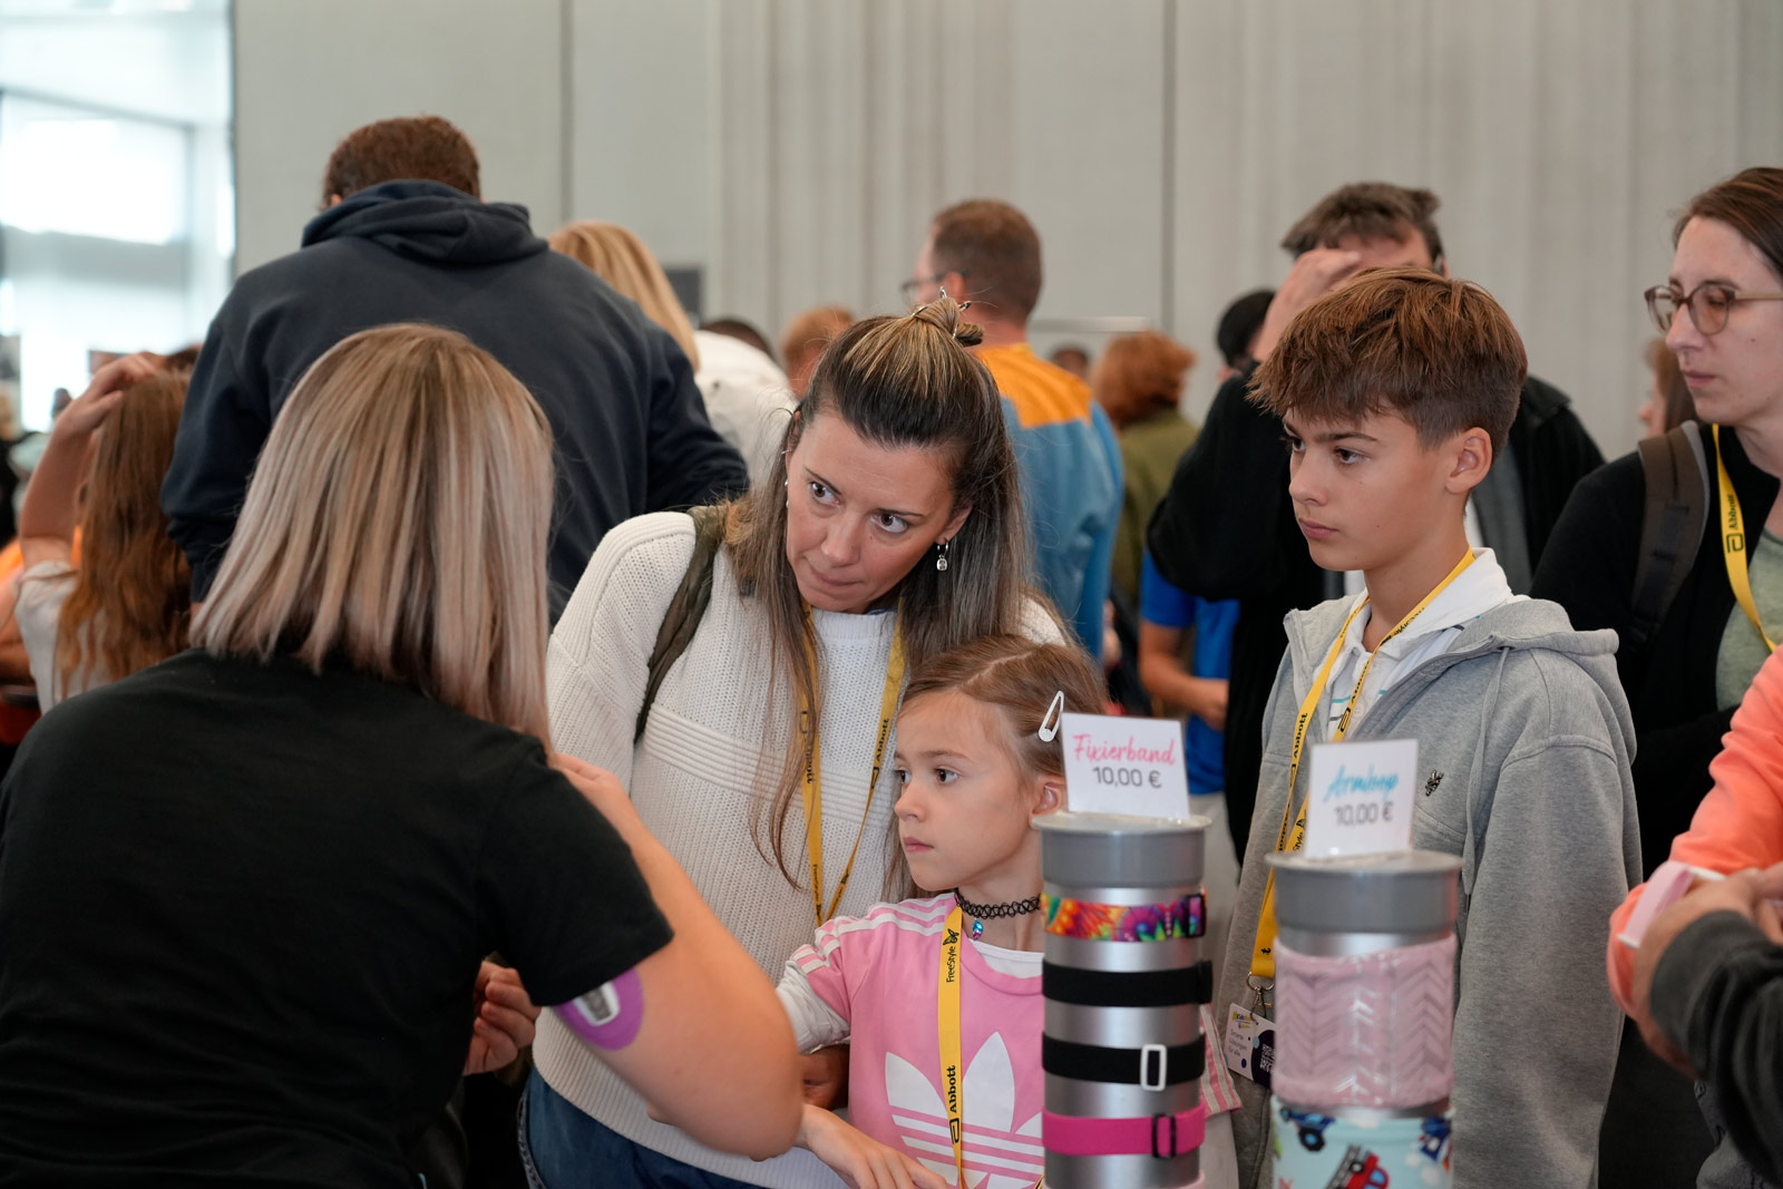
[(538, 1070), (526, 1082), (519, 1125), (533, 1189), (751, 1189), (631, 1143), (551, 1089)]

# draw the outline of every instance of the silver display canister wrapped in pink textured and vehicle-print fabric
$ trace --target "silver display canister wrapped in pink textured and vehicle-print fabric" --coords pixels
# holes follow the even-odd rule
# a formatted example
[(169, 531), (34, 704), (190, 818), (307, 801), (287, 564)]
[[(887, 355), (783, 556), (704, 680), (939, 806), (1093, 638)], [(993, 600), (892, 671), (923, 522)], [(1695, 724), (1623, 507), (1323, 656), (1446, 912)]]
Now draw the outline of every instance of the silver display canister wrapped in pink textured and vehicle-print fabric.
[(1275, 1175), (1450, 1184), (1460, 859), (1268, 857), (1275, 868)]

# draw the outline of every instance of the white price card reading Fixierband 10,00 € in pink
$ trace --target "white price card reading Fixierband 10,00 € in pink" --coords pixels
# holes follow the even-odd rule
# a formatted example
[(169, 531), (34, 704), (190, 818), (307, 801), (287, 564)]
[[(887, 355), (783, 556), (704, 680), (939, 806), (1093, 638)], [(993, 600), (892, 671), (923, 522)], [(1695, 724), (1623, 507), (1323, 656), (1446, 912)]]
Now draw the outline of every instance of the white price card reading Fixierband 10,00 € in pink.
[(1189, 816), (1180, 722), (1068, 713), (1059, 742), (1073, 813)]

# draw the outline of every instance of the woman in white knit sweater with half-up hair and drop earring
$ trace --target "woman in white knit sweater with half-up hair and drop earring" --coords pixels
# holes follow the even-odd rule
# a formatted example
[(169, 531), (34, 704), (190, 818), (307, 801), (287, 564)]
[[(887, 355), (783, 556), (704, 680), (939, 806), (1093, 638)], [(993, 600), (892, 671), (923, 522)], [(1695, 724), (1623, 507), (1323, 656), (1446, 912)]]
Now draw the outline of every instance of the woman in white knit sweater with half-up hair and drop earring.
[[(909, 886), (892, 825), (906, 672), (982, 635), (1063, 640), (1027, 590), (1015, 453), (977, 340), (945, 298), (836, 337), (768, 476), (710, 521), (710, 604), (654, 695), (694, 517), (608, 533), (553, 633), (558, 743), (619, 777), (761, 970)], [(834, 1185), (809, 1152), (752, 1164), (654, 1121), (555, 1020), (535, 1057), (524, 1139), (551, 1189)]]

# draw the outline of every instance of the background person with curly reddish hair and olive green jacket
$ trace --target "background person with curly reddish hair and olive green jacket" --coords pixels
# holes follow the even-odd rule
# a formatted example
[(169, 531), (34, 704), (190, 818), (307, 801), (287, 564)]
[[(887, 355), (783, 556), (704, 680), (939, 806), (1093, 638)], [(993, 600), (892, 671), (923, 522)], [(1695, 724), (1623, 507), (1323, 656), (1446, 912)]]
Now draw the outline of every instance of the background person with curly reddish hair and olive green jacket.
[(1139, 603), (1139, 554), (1145, 526), (1170, 488), (1177, 460), (1195, 444), (1195, 422), (1179, 408), (1182, 381), (1195, 351), (1143, 330), (1107, 344), (1089, 378), (1089, 390), (1114, 422), (1127, 492), (1114, 535), (1114, 590), (1127, 606)]

